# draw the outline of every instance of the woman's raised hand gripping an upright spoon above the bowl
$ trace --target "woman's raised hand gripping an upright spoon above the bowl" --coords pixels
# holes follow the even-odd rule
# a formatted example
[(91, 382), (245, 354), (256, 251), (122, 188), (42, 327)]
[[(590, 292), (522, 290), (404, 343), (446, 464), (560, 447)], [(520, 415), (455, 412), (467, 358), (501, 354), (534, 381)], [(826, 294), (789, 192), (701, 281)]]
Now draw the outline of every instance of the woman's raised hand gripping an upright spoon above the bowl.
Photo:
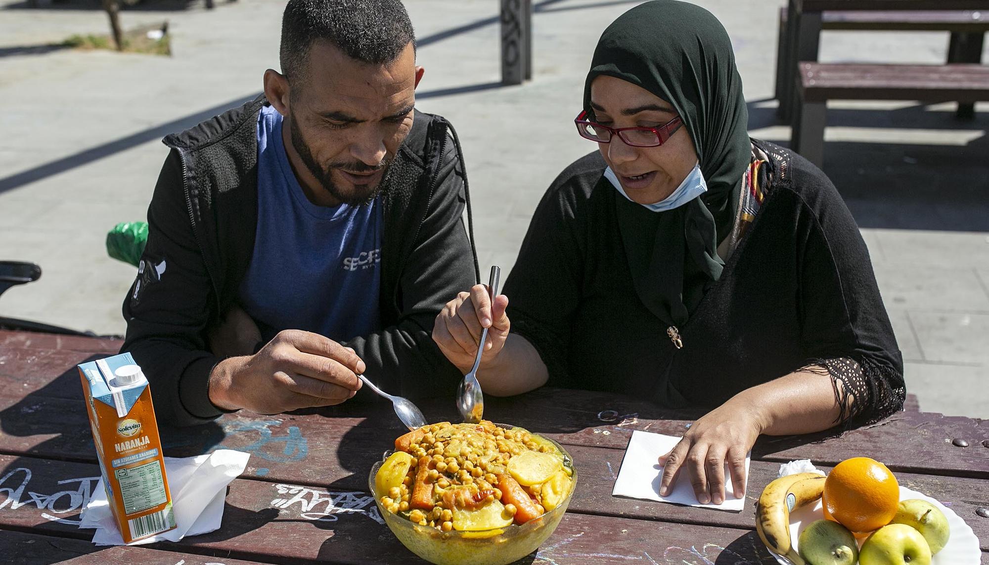
[(475, 284), (470, 292), (457, 294), (440, 310), (433, 325), (433, 341), (446, 359), (466, 374), (478, 355), (481, 331), (488, 328), (488, 343), (481, 357), (484, 366), (500, 353), (508, 337), (511, 324), (504, 313), (507, 306), (507, 296), (498, 294), (493, 304), (488, 285)]

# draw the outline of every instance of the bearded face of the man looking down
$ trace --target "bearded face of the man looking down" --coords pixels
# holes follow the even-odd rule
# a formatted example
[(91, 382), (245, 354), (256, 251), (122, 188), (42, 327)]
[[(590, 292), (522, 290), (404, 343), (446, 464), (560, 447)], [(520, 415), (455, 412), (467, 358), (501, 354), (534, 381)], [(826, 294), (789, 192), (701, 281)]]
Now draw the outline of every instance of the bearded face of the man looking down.
[(288, 123), (299, 160), (321, 185), (311, 190), (326, 193), (313, 196), (368, 202), (412, 127), (421, 76), (412, 45), (391, 63), (368, 64), (316, 41), (307, 65), (290, 86)]

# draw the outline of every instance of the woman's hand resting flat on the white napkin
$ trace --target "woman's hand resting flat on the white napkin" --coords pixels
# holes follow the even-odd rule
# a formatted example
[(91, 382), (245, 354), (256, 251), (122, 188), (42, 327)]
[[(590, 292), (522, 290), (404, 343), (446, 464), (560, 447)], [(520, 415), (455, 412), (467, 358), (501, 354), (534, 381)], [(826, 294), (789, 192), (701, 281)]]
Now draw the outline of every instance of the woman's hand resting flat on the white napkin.
[(745, 494), (746, 455), (764, 426), (752, 407), (733, 405), (733, 400), (694, 422), (669, 453), (660, 455), (660, 464), (664, 465), (662, 496), (670, 494), (676, 476), (686, 469), (697, 502), (721, 504), (725, 500), (725, 463), (735, 498)]

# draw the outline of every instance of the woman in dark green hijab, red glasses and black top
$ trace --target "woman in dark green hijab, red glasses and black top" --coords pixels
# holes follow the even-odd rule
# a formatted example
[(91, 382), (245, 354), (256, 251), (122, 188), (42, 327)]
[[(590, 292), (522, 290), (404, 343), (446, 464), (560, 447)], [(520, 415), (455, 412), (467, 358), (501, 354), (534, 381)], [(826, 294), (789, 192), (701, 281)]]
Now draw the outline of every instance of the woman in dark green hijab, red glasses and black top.
[(550, 384), (711, 409), (661, 456), (661, 492), (686, 467), (705, 504), (724, 501), (726, 463), (742, 496), (761, 434), (861, 425), (905, 396), (848, 208), (809, 162), (750, 139), (747, 121), (710, 13), (629, 10), (584, 87), (578, 130), (598, 152), (547, 191), (504, 295), (462, 292), (433, 330), (466, 372), (491, 327), (478, 376), (494, 395)]

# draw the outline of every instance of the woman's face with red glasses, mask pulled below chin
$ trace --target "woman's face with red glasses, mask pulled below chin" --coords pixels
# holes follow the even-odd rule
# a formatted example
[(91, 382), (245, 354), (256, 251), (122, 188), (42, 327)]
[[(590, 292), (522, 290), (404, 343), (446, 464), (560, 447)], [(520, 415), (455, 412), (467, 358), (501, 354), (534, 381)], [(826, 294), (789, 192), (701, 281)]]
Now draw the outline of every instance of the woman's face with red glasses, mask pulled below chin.
[[(590, 107), (601, 125), (659, 127), (676, 117), (671, 104), (648, 90), (613, 76), (590, 83)], [(659, 147), (632, 147), (614, 135), (597, 149), (621, 182), (625, 194), (641, 204), (669, 197), (697, 164), (693, 140), (681, 126)]]

